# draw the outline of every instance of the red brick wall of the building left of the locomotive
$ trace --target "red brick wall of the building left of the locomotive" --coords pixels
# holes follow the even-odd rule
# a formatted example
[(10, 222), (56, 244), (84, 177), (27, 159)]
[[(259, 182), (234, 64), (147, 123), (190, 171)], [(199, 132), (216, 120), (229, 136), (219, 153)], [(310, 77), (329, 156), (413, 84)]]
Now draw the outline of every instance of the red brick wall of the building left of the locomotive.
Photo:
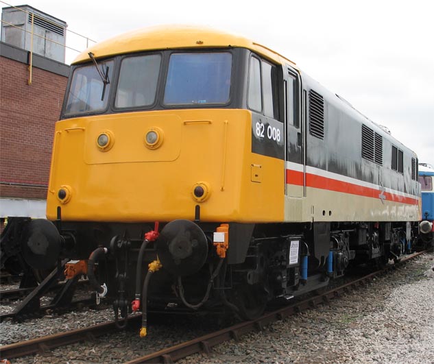
[(0, 56), (0, 197), (45, 199), (67, 77)]

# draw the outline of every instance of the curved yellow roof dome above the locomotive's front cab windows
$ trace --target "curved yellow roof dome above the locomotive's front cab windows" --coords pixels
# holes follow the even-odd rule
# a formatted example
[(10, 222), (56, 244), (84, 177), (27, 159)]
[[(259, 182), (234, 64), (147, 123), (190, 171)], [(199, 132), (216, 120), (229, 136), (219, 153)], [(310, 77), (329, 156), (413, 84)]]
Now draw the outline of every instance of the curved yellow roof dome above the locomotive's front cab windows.
[(90, 60), (88, 56), (89, 52), (92, 52), (95, 58), (104, 58), (117, 54), (153, 51), (157, 49), (222, 47), (251, 49), (275, 62), (291, 63), (291, 66), (296, 66), (294, 62), (272, 51), (272, 49), (243, 36), (208, 27), (189, 25), (157, 25), (114, 36), (80, 53), (73, 61), (73, 64)]

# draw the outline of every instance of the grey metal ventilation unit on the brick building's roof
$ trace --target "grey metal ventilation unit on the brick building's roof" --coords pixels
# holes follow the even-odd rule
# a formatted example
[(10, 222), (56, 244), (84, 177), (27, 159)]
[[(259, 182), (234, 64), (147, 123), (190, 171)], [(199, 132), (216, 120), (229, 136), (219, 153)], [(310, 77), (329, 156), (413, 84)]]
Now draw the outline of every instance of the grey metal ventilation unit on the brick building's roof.
[(1, 41), (64, 63), (67, 26), (66, 22), (29, 5), (3, 8)]

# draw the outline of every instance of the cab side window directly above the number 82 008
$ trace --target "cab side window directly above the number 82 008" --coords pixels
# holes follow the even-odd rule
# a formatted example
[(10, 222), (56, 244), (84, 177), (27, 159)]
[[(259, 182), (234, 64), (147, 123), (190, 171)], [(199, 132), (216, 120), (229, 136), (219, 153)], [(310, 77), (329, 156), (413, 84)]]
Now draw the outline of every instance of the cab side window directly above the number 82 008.
[(248, 108), (279, 119), (276, 66), (256, 57), (250, 58)]

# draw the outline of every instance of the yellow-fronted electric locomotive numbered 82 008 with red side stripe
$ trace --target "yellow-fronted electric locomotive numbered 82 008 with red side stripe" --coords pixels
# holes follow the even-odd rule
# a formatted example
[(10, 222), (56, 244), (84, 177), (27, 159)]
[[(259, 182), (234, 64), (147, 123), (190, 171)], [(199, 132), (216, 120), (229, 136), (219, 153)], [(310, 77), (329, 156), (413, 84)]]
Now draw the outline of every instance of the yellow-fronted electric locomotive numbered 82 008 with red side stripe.
[(116, 317), (252, 319), (350, 263), (399, 259), (420, 220), (417, 176), (413, 151), (288, 58), (151, 27), (73, 62), (47, 220), (23, 254), (40, 269), (69, 260), (67, 277), (86, 273)]

